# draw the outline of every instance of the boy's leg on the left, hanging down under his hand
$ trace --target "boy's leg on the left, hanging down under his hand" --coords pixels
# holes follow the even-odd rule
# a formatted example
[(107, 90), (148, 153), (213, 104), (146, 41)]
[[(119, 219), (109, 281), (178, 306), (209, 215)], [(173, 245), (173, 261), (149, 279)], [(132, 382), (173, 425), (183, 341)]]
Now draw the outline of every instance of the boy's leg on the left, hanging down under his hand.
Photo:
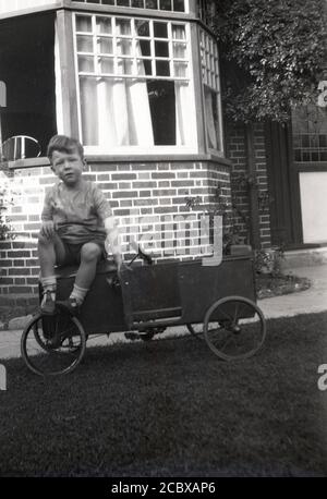
[(65, 249), (58, 234), (46, 238), (44, 234), (38, 236), (38, 258), (41, 271), (41, 284), (44, 289), (44, 300), (41, 309), (46, 313), (55, 312), (56, 300), (56, 276), (55, 265), (64, 260)]

